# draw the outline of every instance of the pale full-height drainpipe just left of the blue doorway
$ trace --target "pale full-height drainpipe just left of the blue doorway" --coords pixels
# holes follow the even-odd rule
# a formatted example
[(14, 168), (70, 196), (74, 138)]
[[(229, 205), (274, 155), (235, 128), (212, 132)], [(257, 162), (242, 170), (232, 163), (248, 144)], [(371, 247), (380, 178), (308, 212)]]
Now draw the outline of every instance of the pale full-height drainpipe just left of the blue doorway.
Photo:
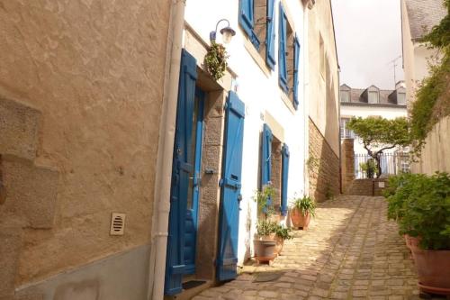
[(148, 266), (148, 300), (159, 300), (164, 297), (170, 184), (184, 29), (184, 6), (185, 0), (172, 0), (166, 48), (166, 57), (170, 57), (170, 60), (166, 61), (163, 110), (157, 150), (157, 173)]

